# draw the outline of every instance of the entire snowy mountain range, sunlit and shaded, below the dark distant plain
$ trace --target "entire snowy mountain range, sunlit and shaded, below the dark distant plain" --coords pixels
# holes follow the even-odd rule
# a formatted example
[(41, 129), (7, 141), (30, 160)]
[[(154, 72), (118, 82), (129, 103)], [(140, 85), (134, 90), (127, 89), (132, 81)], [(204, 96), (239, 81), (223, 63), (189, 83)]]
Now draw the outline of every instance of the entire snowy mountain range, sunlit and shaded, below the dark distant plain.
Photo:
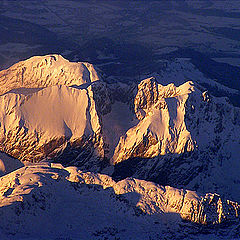
[(188, 59), (130, 83), (57, 54), (2, 70), (0, 239), (240, 239), (237, 92)]

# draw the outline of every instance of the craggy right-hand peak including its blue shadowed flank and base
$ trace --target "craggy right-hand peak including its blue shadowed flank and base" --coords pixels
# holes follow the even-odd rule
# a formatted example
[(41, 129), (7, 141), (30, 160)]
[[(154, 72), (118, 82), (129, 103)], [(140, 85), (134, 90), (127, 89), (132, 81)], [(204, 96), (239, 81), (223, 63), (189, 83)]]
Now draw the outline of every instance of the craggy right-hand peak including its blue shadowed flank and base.
[(141, 120), (116, 147), (116, 178), (134, 176), (240, 198), (239, 108), (190, 82), (163, 87), (152, 79), (138, 85), (134, 101)]

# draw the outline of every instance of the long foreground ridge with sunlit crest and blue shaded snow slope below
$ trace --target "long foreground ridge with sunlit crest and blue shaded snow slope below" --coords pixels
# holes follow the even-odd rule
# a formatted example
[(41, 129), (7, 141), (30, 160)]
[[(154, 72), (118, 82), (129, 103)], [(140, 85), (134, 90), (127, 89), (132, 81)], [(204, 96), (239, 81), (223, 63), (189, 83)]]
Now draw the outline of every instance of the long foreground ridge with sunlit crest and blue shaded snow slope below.
[[(60, 164), (23, 167), (0, 183), (2, 240), (218, 239), (213, 226), (220, 223), (232, 224), (225, 239), (239, 234), (234, 230), (239, 204), (216, 194), (200, 196), (134, 178), (115, 182)], [(208, 234), (191, 222), (205, 225)]]

